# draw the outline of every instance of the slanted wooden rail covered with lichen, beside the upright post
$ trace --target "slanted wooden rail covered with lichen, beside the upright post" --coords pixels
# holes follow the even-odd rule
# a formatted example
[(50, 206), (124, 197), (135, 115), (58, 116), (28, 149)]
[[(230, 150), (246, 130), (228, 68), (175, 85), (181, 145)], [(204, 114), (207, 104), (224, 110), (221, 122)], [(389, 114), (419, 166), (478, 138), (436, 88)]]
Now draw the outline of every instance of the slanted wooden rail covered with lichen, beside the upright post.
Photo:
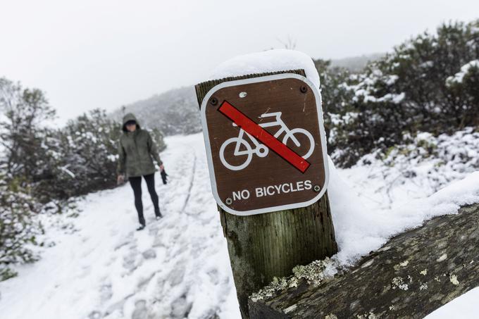
[[(423, 318), (479, 286), (479, 204), (399, 234), (318, 287), (250, 301), (251, 318)], [(458, 313), (457, 318), (461, 315)]]

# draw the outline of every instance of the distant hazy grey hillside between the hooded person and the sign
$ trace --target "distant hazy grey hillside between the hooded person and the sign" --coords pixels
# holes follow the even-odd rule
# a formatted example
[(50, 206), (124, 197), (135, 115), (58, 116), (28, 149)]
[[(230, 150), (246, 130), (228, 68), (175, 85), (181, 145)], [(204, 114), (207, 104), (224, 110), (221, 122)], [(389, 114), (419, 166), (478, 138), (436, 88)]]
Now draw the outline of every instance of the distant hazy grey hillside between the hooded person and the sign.
[[(149, 99), (125, 106), (125, 113), (134, 113), (140, 124), (158, 128), (164, 135), (188, 135), (201, 132), (199, 109), (194, 87), (172, 89)], [(123, 110), (113, 112), (120, 120)]]

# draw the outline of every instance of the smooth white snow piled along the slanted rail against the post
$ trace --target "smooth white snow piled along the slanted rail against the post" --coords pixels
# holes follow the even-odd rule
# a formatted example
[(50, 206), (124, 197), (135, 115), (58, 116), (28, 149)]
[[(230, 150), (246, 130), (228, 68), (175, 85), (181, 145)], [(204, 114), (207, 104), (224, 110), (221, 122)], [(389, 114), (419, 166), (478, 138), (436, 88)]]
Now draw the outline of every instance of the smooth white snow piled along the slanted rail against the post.
[[(332, 165), (332, 163), (330, 163)], [(330, 170), (330, 204), (340, 265), (353, 265), (361, 256), (379, 249), (395, 234), (421, 226), (435, 216), (457, 213), (461, 206), (479, 203), (479, 171), (454, 182), (425, 199), (403, 201), (389, 210), (364, 206), (354, 190)]]

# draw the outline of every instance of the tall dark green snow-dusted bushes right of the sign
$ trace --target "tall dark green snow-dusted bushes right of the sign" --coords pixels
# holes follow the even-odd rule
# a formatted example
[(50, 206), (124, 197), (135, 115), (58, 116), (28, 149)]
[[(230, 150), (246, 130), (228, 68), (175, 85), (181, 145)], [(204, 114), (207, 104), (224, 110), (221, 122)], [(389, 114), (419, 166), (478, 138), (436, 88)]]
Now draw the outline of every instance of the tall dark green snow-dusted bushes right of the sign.
[(479, 20), (418, 35), (359, 74), (317, 65), (328, 150), (343, 167), (417, 132), (479, 125)]

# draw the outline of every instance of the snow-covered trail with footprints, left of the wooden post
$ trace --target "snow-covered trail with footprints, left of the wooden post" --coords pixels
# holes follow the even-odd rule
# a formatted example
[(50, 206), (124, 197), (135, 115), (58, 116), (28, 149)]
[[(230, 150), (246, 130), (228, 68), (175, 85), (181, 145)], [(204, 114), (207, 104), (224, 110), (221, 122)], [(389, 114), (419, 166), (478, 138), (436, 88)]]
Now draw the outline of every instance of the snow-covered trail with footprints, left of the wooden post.
[(1, 318), (239, 316), (202, 135), (167, 142), (170, 182), (156, 174), (164, 218), (154, 220), (144, 182), (142, 232), (129, 184), (89, 194), (70, 227), (49, 227), (55, 246), (39, 262), (0, 282)]

